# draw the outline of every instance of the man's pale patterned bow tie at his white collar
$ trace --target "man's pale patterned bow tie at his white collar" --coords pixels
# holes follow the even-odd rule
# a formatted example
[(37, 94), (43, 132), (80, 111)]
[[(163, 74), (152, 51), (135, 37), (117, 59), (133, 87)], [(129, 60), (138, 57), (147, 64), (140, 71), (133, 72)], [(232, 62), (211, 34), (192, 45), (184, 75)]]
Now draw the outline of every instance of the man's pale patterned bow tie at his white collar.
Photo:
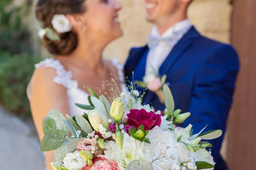
[(175, 31), (170, 37), (158, 37), (150, 34), (148, 36), (147, 45), (149, 49), (153, 49), (158, 45), (159, 42), (166, 42), (168, 45), (170, 45), (170, 47), (173, 47), (182, 38), (185, 32), (187, 32), (187, 30)]

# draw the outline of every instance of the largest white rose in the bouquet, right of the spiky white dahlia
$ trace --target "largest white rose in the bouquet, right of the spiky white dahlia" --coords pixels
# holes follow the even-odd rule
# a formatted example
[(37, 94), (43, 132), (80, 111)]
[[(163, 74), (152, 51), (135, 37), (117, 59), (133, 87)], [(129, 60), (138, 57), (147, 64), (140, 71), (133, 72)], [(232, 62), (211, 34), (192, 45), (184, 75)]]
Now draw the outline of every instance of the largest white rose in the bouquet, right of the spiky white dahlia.
[(150, 144), (144, 143), (144, 152), (146, 159), (152, 163), (153, 169), (175, 169), (179, 165), (177, 150), (175, 148), (177, 141), (173, 138), (173, 133), (164, 132), (158, 126), (155, 126), (146, 136)]

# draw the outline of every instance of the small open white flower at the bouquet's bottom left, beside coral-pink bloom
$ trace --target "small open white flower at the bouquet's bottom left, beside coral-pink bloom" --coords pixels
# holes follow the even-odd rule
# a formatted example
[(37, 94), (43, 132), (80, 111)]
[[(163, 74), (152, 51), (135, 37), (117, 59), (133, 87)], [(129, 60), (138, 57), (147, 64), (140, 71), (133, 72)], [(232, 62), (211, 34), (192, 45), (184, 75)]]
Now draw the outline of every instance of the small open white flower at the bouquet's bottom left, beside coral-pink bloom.
[(72, 169), (82, 169), (86, 166), (86, 162), (80, 156), (79, 151), (74, 151), (74, 153), (68, 153), (63, 159), (63, 166), (69, 170)]

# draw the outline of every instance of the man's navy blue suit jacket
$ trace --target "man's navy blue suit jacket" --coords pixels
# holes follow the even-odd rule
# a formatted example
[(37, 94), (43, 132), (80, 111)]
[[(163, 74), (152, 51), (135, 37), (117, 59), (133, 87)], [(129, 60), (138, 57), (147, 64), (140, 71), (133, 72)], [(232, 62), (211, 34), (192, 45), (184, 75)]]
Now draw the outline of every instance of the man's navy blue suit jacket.
[[(143, 80), (148, 51), (147, 46), (131, 49), (125, 63), (125, 75), (130, 81), (132, 72), (133, 81)], [(175, 109), (181, 109), (182, 113), (191, 112), (181, 126), (191, 123), (194, 133), (198, 133), (208, 125), (205, 131), (221, 129), (224, 134), (238, 70), (238, 56), (230, 45), (209, 40), (191, 27), (159, 69), (160, 75), (167, 75), (166, 84), (173, 94)], [(165, 108), (150, 91), (146, 91), (143, 102), (156, 110)], [(223, 137), (209, 141), (213, 144), (216, 166), (224, 163), (218, 164)]]

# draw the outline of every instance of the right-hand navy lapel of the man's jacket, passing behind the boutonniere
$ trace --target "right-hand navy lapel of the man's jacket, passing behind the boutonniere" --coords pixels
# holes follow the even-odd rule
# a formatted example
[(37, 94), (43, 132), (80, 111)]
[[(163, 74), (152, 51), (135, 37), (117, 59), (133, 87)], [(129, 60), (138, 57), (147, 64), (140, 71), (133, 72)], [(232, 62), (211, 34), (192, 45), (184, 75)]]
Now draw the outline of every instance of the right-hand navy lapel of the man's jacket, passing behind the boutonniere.
[[(175, 62), (182, 55), (182, 53), (184, 53), (193, 44), (193, 39), (199, 36), (200, 34), (192, 26), (190, 30), (182, 37), (182, 39), (179, 40), (179, 42), (173, 47), (172, 51), (170, 51), (163, 64), (160, 66), (160, 75), (169, 73)], [(145, 102), (146, 104), (150, 103), (154, 96), (155, 93), (147, 91), (143, 98), (143, 102)]]

